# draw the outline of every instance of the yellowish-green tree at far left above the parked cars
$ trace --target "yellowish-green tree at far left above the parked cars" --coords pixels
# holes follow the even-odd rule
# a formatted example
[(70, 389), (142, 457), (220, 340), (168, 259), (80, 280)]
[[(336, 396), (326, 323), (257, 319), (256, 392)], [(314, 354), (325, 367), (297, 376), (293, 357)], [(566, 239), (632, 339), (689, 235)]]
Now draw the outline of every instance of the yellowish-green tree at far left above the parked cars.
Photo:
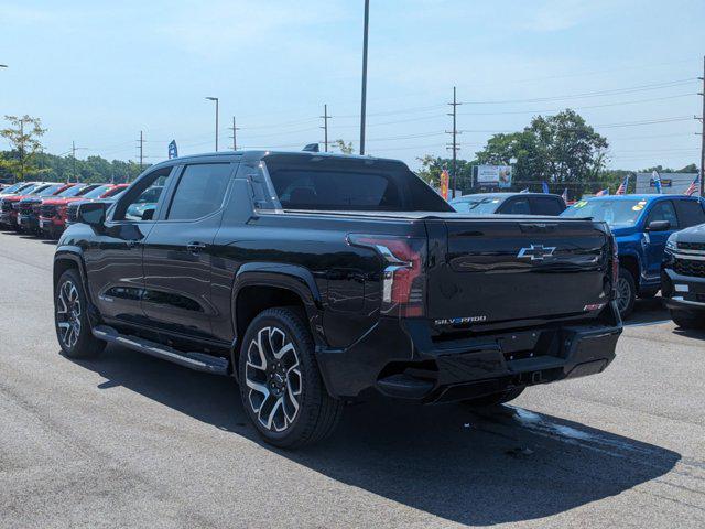
[(46, 129), (42, 128), (40, 118), (24, 115), (6, 116), (10, 126), (0, 130), (0, 137), (11, 145), (10, 152), (4, 152), (0, 159), (0, 168), (9, 173), (13, 181), (23, 181), (31, 174), (40, 172), (36, 165), (36, 156), (42, 151), (40, 138)]

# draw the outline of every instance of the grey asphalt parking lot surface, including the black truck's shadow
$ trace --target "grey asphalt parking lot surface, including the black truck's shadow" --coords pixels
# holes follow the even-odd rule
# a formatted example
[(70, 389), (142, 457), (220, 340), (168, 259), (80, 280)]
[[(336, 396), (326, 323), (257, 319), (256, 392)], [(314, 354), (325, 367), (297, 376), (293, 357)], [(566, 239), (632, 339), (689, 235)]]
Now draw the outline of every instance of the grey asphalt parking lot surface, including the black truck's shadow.
[(0, 527), (705, 527), (705, 333), (640, 302), (603, 375), (512, 407), (349, 407), (300, 452), (237, 388), (59, 355), (54, 245), (0, 233)]

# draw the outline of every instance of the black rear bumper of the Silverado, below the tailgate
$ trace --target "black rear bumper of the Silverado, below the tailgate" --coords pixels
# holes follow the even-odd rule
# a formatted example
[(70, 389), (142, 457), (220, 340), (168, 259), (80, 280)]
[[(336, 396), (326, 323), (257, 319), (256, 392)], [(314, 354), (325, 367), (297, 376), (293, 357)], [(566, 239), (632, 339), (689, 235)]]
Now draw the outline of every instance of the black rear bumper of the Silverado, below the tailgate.
[(334, 397), (382, 395), (422, 402), (481, 397), (513, 387), (601, 373), (615, 358), (621, 321), (606, 317), (434, 342), (426, 321), (380, 320), (347, 349), (317, 350)]

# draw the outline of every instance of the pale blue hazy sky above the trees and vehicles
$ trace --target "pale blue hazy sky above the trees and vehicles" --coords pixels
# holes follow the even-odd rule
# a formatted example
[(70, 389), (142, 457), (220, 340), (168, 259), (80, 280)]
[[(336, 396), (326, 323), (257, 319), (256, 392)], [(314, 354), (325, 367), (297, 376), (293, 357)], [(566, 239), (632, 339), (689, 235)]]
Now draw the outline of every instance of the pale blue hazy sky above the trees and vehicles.
[[(47, 152), (144, 161), (215, 149), (359, 147), (362, 0), (0, 0), (0, 116), (40, 117)], [(703, 0), (371, 0), (368, 154), (459, 156), (532, 116), (578, 111), (611, 168), (698, 163)], [(0, 142), (0, 149), (7, 149)]]

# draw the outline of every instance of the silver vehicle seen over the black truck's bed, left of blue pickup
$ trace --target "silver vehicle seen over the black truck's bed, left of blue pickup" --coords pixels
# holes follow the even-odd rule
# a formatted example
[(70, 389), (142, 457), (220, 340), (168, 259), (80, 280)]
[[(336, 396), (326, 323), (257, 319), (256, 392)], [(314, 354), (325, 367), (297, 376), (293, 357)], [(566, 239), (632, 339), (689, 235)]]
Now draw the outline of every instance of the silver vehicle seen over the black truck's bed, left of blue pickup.
[(561, 215), (565, 202), (550, 193), (476, 193), (458, 196), (451, 205), (459, 213), (473, 215)]

